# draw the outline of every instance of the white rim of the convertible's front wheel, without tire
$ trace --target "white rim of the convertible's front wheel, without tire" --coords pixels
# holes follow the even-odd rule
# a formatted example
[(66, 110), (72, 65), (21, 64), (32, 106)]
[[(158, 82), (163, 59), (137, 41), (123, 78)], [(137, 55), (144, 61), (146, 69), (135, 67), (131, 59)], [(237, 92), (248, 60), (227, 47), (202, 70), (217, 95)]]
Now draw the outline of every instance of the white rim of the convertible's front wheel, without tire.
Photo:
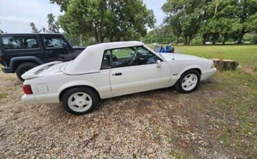
[(183, 78), (181, 85), (183, 90), (191, 91), (195, 86), (197, 86), (197, 82), (197, 75), (190, 73)]

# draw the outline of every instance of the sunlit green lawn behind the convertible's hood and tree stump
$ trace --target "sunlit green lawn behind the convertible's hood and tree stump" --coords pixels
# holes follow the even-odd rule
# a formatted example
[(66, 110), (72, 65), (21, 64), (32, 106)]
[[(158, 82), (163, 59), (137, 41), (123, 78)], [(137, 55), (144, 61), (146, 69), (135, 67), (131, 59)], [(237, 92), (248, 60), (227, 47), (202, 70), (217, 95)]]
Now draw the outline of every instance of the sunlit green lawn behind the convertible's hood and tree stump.
[(257, 68), (257, 45), (174, 46), (176, 53), (205, 58), (232, 59), (240, 66)]

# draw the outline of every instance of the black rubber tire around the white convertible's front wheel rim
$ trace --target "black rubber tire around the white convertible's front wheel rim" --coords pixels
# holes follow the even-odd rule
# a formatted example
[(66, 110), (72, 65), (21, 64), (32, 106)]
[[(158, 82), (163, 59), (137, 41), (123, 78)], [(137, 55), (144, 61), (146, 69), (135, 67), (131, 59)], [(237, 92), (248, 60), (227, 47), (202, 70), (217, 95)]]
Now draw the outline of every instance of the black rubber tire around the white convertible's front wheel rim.
[[(197, 76), (197, 84), (194, 86), (194, 88), (190, 89), (190, 90), (185, 90), (182, 86), (182, 83), (183, 83), (183, 79), (187, 76), (187, 75), (190, 75), (190, 74), (194, 74)], [(174, 88), (176, 89), (176, 91), (179, 91), (180, 93), (191, 93), (193, 91), (195, 91), (197, 89), (197, 87), (199, 86), (200, 84), (200, 80), (201, 80), (201, 77), (200, 77), (200, 73), (199, 71), (196, 71), (196, 70), (190, 70), (190, 71), (186, 71), (185, 73), (183, 73), (181, 75), (181, 77), (179, 78), (179, 80), (176, 82)]]

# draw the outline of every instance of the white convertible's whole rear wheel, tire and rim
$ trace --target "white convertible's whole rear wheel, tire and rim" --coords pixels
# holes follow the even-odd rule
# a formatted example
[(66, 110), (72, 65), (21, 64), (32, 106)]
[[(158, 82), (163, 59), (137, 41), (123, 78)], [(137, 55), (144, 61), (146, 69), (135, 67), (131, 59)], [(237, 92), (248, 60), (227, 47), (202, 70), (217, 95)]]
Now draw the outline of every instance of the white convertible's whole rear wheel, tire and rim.
[(98, 95), (91, 88), (72, 88), (63, 95), (63, 107), (74, 115), (90, 113), (98, 102)]

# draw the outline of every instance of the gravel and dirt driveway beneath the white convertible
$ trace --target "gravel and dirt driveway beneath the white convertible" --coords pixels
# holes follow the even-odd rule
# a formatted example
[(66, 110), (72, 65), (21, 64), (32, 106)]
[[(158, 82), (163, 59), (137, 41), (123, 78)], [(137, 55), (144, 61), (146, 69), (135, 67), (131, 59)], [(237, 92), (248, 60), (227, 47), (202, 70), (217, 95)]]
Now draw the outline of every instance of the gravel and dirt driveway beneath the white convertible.
[(212, 135), (219, 82), (102, 100), (76, 116), (60, 104), (23, 104), (22, 83), (0, 73), (0, 158), (233, 158)]

